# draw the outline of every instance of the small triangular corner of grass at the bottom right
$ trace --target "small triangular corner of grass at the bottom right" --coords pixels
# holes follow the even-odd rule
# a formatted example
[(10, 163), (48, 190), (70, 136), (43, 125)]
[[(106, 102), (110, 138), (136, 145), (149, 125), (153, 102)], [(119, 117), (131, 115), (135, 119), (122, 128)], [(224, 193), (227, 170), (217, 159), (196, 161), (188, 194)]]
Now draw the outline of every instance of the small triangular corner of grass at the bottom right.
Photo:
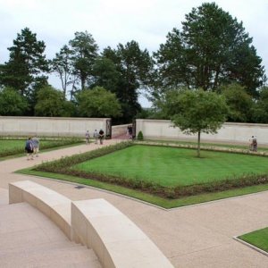
[(240, 236), (239, 239), (268, 252), (268, 227), (249, 232)]

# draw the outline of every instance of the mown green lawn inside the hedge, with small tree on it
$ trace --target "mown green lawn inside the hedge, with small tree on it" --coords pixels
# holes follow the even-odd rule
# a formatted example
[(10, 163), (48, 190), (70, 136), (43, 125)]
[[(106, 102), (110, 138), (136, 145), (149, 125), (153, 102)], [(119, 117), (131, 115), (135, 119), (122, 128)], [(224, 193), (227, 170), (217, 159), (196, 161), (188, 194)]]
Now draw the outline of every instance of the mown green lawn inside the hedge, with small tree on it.
[(165, 186), (186, 186), (248, 174), (268, 173), (268, 158), (173, 147), (133, 146), (72, 169), (154, 181)]

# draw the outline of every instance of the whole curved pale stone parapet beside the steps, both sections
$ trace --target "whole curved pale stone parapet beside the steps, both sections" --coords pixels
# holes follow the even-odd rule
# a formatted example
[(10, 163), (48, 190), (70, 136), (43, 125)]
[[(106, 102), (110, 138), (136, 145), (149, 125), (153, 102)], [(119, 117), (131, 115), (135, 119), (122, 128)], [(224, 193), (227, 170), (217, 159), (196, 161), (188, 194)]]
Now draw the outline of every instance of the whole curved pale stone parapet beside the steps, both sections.
[(71, 199), (30, 180), (9, 183), (9, 204), (27, 202), (65, 235), (92, 248), (105, 268), (173, 267), (147, 235), (105, 199)]

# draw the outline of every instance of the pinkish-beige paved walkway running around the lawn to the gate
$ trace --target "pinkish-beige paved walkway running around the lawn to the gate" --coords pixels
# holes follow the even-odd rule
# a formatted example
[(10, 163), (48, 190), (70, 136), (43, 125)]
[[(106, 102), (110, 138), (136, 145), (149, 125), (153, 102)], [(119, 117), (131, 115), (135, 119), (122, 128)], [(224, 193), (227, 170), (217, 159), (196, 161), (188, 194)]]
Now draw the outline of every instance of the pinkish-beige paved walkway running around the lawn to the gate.
[[(105, 140), (110, 145), (119, 140)], [(169, 211), (95, 188), (75, 188), (55, 180), (14, 174), (21, 168), (100, 147), (90, 144), (0, 162), (0, 188), (8, 182), (33, 180), (72, 200), (105, 198), (147, 233), (175, 267), (268, 267), (268, 257), (240, 244), (233, 236), (268, 226), (268, 191)], [(1, 192), (0, 192), (1, 194)]]

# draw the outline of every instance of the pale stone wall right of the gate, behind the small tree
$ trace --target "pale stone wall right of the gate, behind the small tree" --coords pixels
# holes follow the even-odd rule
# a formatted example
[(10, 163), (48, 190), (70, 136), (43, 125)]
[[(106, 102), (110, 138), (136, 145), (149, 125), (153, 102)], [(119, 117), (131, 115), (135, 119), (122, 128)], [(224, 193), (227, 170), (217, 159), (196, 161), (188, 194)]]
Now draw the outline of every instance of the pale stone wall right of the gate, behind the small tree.
[[(144, 138), (151, 139), (193, 139), (197, 140), (197, 135), (186, 135), (179, 128), (172, 127), (172, 121), (166, 120), (136, 120), (136, 130), (141, 130)], [(251, 136), (256, 136), (258, 143), (268, 145), (268, 124), (249, 123), (224, 123), (217, 134), (201, 133), (201, 140), (228, 142), (228, 143), (248, 143)]]

